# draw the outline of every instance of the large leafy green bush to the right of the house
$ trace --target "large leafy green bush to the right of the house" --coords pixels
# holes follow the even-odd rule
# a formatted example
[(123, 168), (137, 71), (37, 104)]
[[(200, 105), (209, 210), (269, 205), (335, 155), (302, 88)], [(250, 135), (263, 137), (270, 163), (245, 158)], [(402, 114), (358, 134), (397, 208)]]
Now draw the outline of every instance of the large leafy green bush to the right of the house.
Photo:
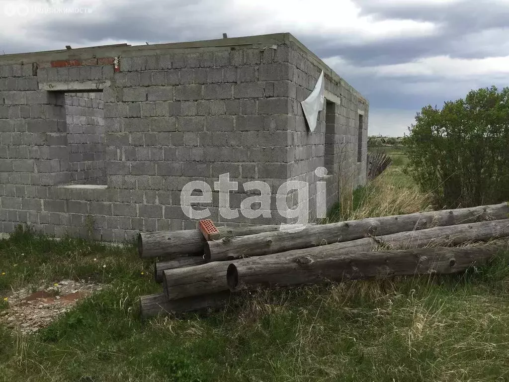
[(437, 206), (509, 199), (509, 88), (471, 91), (442, 110), (423, 107), (409, 131), (406, 171)]

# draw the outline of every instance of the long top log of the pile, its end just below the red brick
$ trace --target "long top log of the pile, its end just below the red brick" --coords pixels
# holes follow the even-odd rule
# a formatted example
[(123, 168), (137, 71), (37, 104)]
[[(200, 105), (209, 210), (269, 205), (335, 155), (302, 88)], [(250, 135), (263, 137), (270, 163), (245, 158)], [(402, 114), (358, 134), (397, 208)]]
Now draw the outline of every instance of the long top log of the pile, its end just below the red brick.
[(315, 225), (306, 227), (300, 232), (265, 232), (257, 235), (207, 241), (205, 243), (205, 259), (209, 261), (234, 260), (350, 241), (366, 235), (388, 235), (430, 227), (506, 219), (508, 216), (509, 206), (507, 203), (501, 203), (490, 206), (419, 212)]

